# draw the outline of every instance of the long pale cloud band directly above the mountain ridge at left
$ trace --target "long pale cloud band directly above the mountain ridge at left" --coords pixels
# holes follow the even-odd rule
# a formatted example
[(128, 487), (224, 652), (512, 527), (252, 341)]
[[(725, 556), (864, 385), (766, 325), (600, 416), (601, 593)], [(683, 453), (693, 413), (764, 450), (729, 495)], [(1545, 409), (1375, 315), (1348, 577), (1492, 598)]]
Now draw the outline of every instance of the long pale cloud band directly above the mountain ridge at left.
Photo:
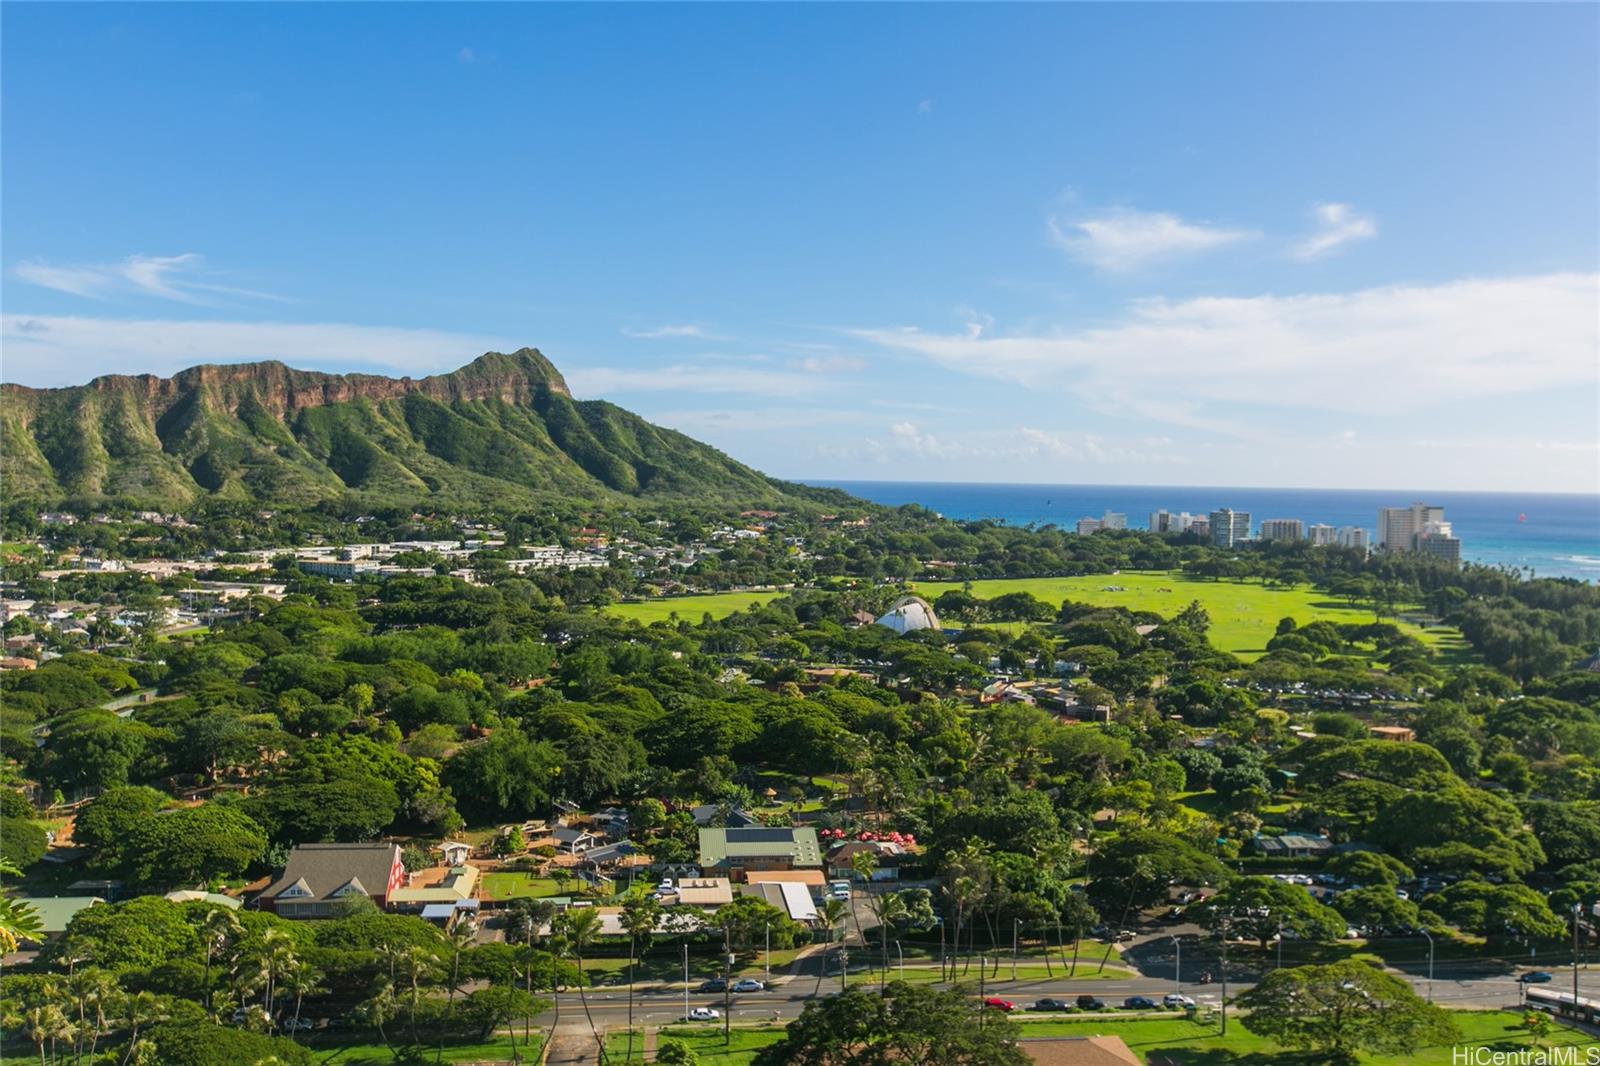
[(349, 323), (174, 322), (0, 315), (5, 379), (30, 386), (82, 384), (99, 375), (171, 375), (197, 363), (277, 359), (291, 367), (390, 373), (454, 370), (502, 338), (445, 330)]

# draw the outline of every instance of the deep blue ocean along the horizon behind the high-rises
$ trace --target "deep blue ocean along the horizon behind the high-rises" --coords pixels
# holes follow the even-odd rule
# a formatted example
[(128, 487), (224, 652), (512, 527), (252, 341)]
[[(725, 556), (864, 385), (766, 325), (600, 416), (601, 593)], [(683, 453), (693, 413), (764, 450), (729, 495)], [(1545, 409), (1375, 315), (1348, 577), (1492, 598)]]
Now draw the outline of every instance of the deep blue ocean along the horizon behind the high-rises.
[(1072, 528), (1106, 511), (1142, 530), (1152, 511), (1208, 514), (1219, 507), (1262, 519), (1301, 519), (1370, 533), (1379, 507), (1414, 501), (1445, 509), (1461, 538), (1461, 557), (1515, 567), (1539, 578), (1600, 581), (1600, 496), (1549, 493), (1395, 493), (1341, 488), (1160, 488), (1150, 485), (974, 485), (958, 482), (808, 482), (880, 504), (917, 503), (949, 519), (998, 519), (1010, 525), (1051, 522)]

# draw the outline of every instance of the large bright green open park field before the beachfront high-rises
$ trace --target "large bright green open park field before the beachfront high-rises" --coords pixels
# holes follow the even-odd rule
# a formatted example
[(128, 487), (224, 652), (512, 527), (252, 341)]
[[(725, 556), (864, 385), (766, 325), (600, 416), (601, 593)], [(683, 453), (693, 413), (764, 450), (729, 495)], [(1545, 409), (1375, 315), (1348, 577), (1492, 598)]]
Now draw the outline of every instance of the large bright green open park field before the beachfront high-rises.
[[(957, 581), (920, 581), (917, 592), (930, 600), (949, 589), (960, 589)], [(1126, 607), (1138, 611), (1155, 611), (1171, 616), (1189, 607), (1190, 600), (1211, 615), (1211, 643), (1242, 659), (1259, 658), (1267, 640), (1277, 631), (1280, 618), (1293, 618), (1298, 624), (1328, 619), (1334, 623), (1370, 623), (1373, 615), (1344, 600), (1334, 600), (1326, 592), (1310, 586), (1294, 589), (1269, 589), (1250, 581), (1198, 581), (1173, 571), (1123, 571), (1118, 575), (1090, 575), (1083, 578), (1000, 578), (973, 581), (973, 595), (994, 599), (1006, 592), (1030, 592), (1048, 603), (1077, 600), (1102, 607)], [(1456, 629), (1421, 629), (1400, 624), (1410, 634), (1445, 656), (1462, 655), (1464, 642)]]

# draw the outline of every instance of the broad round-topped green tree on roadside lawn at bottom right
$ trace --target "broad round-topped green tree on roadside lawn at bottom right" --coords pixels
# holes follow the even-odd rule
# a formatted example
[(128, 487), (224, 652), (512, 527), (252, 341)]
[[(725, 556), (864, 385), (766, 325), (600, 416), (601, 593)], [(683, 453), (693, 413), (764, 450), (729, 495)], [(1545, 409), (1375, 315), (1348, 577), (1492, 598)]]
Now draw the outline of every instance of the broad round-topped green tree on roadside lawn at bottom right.
[(1274, 970), (1235, 1000), (1245, 1028), (1278, 1044), (1350, 1063), (1358, 1052), (1410, 1055), (1458, 1037), (1456, 1023), (1411, 986), (1365, 962)]

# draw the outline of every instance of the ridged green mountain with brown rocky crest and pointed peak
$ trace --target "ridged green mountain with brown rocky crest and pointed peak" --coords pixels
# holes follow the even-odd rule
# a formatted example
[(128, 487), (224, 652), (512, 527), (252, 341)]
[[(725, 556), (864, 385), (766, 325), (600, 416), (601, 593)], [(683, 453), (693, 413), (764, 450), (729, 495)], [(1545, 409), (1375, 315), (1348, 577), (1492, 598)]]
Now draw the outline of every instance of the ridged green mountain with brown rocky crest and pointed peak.
[(277, 506), (837, 498), (768, 479), (613, 403), (573, 400), (533, 349), (419, 379), (274, 362), (69, 389), (0, 386), (0, 482), (13, 499), (144, 507), (213, 496)]

